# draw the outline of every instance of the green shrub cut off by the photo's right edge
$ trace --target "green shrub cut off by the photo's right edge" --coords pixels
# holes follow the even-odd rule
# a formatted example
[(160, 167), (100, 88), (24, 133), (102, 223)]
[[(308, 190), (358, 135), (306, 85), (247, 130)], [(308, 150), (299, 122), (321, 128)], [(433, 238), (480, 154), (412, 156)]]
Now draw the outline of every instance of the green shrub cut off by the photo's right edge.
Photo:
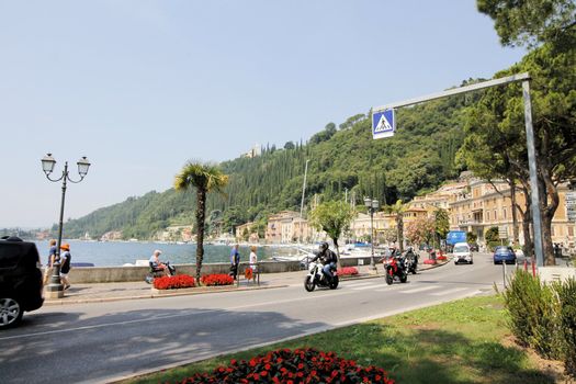
[(563, 340), (563, 360), (566, 373), (576, 376), (576, 280), (555, 283), (560, 302), (558, 325)]

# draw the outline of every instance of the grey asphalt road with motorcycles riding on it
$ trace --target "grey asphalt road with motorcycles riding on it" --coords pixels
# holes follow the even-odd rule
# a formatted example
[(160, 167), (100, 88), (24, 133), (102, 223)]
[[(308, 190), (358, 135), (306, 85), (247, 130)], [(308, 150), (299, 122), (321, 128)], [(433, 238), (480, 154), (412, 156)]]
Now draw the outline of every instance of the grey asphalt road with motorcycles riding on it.
[(391, 286), (377, 278), (307, 293), (294, 281), (274, 290), (46, 306), (0, 332), (0, 382), (110, 382), (489, 293), (494, 282), (501, 285), (502, 267), (476, 253), (472, 266), (450, 262)]

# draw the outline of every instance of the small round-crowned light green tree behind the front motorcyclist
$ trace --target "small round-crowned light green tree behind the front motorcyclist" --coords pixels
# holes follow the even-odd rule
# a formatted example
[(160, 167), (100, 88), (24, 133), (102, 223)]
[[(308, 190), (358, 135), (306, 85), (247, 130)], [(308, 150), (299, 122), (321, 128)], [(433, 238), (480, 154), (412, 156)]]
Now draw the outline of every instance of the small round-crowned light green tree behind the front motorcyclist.
[(324, 230), (332, 239), (340, 266), (340, 250), (338, 239), (348, 230), (350, 223), (357, 216), (355, 210), (343, 201), (329, 201), (318, 204), (308, 215), (313, 228)]

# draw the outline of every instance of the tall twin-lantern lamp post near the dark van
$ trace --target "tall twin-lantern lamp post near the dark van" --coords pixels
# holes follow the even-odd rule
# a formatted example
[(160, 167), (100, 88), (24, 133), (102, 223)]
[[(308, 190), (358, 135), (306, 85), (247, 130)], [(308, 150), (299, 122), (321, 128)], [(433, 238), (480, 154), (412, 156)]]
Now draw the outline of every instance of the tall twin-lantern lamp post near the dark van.
[(64, 171), (63, 174), (58, 179), (50, 179), (50, 173), (54, 171), (54, 166), (56, 165), (56, 160), (52, 157), (52, 154), (47, 154), (42, 159), (42, 170), (46, 174), (46, 179), (53, 182), (63, 181), (63, 195), (61, 195), (61, 202), (60, 202), (60, 219), (58, 222), (58, 242), (56, 244), (56, 255), (54, 259), (54, 269), (53, 274), (50, 278), (50, 282), (48, 286), (46, 287), (47, 296), (50, 298), (59, 298), (64, 296), (64, 287), (60, 282), (60, 245), (63, 239), (63, 219), (64, 219), (64, 202), (66, 197), (66, 183), (69, 181), (71, 183), (79, 183), (82, 181), (88, 173), (88, 168), (90, 168), (90, 161), (86, 157), (82, 157), (80, 160), (78, 160), (78, 173), (80, 174), (80, 180), (72, 180), (70, 179), (70, 174), (68, 172), (68, 161), (64, 163)]

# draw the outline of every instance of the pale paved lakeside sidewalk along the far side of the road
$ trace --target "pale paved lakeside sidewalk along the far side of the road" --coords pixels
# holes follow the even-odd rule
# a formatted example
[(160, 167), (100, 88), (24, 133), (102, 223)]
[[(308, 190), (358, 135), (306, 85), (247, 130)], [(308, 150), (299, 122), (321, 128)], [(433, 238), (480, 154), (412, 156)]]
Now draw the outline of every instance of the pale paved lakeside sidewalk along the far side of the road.
[[(420, 260), (422, 261), (422, 260)], [(419, 271), (426, 271), (436, 267), (443, 266), (439, 263), (436, 266), (427, 266), (423, 263), (418, 264)], [(343, 281), (359, 280), (359, 279), (375, 279), (382, 278), (384, 270), (382, 264), (377, 264), (377, 274), (373, 274), (370, 271), (370, 266), (358, 266), (359, 274), (355, 276), (345, 276)], [(155, 294), (151, 290), (153, 285), (147, 284), (143, 281), (134, 282), (117, 282), (117, 283), (93, 283), (93, 284), (74, 284), (72, 286), (64, 292), (64, 297), (46, 300), (44, 305), (63, 305), (63, 304), (82, 304), (82, 303), (102, 303), (113, 302), (122, 300), (138, 300), (138, 298), (158, 298), (158, 297), (170, 297), (181, 295), (194, 295), (194, 294), (207, 294), (216, 292), (229, 292), (229, 291), (247, 291), (247, 290), (269, 290), (285, 287), (290, 285), (301, 285), (304, 282), (306, 271), (296, 272), (283, 272), (283, 273), (267, 273), (260, 275), (260, 285), (252, 282), (247, 282), (240, 279), (240, 285), (237, 286), (215, 286), (215, 287), (202, 287), (195, 289), (194, 292), (181, 293), (174, 291), (173, 293), (162, 293), (161, 295)]]

